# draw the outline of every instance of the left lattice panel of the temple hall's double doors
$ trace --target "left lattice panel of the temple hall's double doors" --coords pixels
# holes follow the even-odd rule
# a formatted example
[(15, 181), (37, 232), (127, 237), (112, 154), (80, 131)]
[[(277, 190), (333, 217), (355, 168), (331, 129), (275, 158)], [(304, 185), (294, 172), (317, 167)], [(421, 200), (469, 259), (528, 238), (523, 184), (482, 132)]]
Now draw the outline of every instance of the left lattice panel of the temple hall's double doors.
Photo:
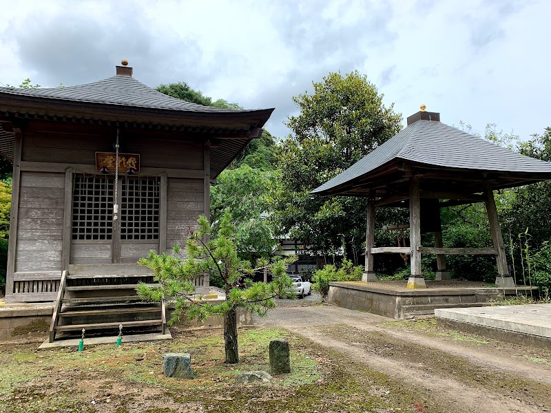
[(110, 176), (74, 175), (73, 240), (111, 240), (113, 183)]

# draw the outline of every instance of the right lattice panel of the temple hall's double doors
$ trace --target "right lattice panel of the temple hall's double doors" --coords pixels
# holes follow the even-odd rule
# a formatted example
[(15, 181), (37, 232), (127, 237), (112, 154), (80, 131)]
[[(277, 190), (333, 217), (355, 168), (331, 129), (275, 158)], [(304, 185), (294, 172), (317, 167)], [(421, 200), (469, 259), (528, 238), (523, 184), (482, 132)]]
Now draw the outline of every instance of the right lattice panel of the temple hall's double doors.
[(159, 237), (160, 178), (123, 178), (121, 240), (157, 240)]

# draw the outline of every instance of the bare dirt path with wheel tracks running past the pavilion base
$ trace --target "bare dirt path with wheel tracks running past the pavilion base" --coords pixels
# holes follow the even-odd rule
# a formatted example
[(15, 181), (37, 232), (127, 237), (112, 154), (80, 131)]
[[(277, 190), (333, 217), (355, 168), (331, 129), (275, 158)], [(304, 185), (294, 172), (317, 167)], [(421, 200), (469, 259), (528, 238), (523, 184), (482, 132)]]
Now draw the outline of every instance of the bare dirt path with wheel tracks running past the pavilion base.
[(412, 330), (407, 327), (411, 322), (388, 321), (332, 306), (277, 308), (258, 320), (427, 390), (453, 411), (551, 411), (551, 366), (527, 358), (541, 355), (540, 350), (499, 341), (457, 341)]

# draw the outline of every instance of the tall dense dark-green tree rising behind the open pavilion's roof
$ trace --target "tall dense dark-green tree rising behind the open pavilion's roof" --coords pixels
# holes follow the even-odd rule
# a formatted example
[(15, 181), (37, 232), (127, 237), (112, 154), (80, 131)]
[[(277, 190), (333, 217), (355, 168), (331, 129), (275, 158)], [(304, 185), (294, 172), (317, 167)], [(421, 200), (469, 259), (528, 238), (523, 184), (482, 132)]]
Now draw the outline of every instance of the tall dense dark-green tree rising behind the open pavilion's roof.
[(365, 239), (365, 201), (356, 197), (312, 196), (310, 191), (353, 165), (395, 135), (401, 115), (385, 107), (383, 95), (366, 76), (330, 73), (313, 83), (313, 94), (293, 97), (300, 114), (278, 151), (280, 187), (272, 218), (278, 235), (290, 235), (329, 253), (344, 244), (357, 262)]

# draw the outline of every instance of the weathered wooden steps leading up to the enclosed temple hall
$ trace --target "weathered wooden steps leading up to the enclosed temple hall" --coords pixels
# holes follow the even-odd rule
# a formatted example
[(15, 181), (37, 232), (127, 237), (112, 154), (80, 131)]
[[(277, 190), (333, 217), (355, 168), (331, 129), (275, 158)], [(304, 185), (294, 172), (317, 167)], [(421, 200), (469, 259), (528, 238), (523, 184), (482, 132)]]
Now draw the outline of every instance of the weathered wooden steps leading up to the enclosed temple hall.
[[(60, 335), (116, 335), (123, 332), (156, 330), (165, 334), (165, 303), (143, 301), (136, 293), (139, 282), (155, 285), (150, 274), (69, 273), (63, 271), (58, 290), (50, 342)], [(93, 331), (92, 331), (93, 330)]]

